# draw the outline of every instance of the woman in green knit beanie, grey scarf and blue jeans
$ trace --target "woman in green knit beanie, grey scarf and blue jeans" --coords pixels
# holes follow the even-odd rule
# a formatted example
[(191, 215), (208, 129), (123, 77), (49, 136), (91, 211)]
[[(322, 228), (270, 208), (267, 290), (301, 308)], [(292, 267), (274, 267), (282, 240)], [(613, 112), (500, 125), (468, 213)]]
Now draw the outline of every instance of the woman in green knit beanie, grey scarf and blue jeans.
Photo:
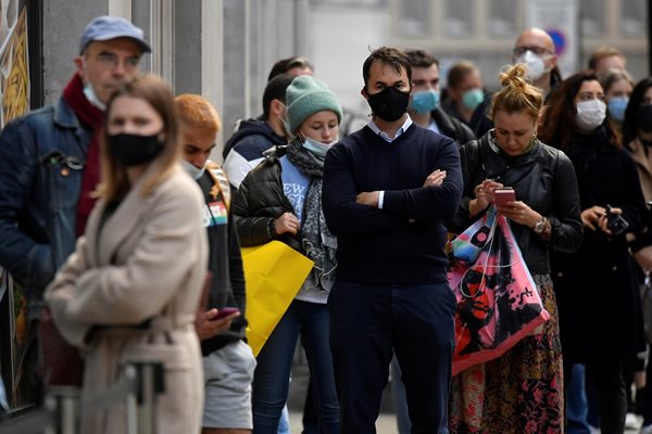
[(314, 382), (323, 433), (339, 433), (339, 405), (328, 346), (326, 302), (333, 285), (337, 240), (322, 212), (322, 177), (338, 141), (342, 111), (328, 87), (299, 76), (286, 91), (287, 131), (293, 140), (265, 154), (247, 175), (234, 202), (243, 246), (279, 240), (314, 260), (314, 267), (258, 356), (253, 380), (253, 432), (276, 434), (301, 334)]

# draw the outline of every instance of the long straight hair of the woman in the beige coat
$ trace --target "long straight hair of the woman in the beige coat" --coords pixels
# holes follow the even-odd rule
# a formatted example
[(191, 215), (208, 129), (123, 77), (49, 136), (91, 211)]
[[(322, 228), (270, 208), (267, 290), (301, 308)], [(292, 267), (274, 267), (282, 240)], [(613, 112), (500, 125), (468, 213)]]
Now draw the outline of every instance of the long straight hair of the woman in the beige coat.
[[(174, 97), (170, 85), (154, 74), (137, 76), (116, 90), (106, 104), (106, 118), (111, 116), (113, 102), (121, 97), (135, 98), (147, 102), (163, 120), (163, 151), (149, 163), (147, 178), (142, 181), (140, 193), (149, 194), (158, 184), (173, 173), (180, 154), (179, 122), (174, 106)], [(102, 181), (98, 186), (97, 195), (106, 201), (124, 197), (131, 186), (127, 178), (126, 167), (111, 154), (109, 132), (104, 128), (101, 146)]]

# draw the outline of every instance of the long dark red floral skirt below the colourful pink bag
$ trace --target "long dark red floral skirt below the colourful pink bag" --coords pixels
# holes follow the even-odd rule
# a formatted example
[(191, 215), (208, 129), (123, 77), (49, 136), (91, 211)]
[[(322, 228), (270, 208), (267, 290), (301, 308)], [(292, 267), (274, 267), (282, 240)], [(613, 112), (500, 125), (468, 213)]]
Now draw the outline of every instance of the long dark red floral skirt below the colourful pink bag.
[(559, 315), (549, 276), (534, 276), (550, 320), (498, 359), (453, 376), (450, 432), (564, 432)]

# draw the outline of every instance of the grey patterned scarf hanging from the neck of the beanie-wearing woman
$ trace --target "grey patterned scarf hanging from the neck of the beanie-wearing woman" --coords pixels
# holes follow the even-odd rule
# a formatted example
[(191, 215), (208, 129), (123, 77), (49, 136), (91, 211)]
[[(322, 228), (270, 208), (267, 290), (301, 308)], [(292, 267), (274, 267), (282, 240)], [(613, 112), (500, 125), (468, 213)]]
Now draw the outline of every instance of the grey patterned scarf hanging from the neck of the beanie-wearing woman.
[(306, 256), (315, 263), (308, 280), (312, 286), (330, 291), (337, 267), (337, 238), (328, 230), (322, 210), (324, 157), (304, 149), (299, 140), (288, 144), (287, 155), (299, 171), (312, 178), (305, 196), (305, 216), (301, 227), (301, 244)]

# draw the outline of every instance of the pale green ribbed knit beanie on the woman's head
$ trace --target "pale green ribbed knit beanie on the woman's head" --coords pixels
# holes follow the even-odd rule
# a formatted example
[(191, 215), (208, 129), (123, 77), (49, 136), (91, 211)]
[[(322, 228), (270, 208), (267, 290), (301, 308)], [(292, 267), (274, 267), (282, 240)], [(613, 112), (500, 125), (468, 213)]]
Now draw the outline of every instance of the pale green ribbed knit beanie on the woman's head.
[(303, 120), (317, 112), (330, 111), (337, 115), (338, 123), (342, 122), (342, 108), (335, 93), (322, 80), (309, 75), (294, 78), (286, 90), (288, 132), (294, 131)]

